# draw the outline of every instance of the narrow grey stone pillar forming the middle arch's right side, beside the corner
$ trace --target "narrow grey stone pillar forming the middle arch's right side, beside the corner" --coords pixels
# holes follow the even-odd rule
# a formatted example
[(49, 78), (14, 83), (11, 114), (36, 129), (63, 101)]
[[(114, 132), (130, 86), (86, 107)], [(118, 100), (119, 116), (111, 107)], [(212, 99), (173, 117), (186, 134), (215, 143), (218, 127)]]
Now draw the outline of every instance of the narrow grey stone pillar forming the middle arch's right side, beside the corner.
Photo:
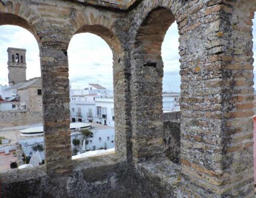
[(115, 151), (118, 155), (132, 157), (130, 67), (127, 52), (113, 55)]

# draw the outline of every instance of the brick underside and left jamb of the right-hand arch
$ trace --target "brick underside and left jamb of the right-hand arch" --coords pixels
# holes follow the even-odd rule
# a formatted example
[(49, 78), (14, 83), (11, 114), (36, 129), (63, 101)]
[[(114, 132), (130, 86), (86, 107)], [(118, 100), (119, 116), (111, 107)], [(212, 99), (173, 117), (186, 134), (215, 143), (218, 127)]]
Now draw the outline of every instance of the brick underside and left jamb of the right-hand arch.
[[(138, 28), (132, 50), (131, 89), (133, 108), (133, 156), (147, 158), (163, 153), (161, 45), (175, 21), (172, 12), (157, 7), (148, 12)], [(150, 105), (148, 102), (150, 101)], [(140, 122), (139, 117), (144, 118)]]

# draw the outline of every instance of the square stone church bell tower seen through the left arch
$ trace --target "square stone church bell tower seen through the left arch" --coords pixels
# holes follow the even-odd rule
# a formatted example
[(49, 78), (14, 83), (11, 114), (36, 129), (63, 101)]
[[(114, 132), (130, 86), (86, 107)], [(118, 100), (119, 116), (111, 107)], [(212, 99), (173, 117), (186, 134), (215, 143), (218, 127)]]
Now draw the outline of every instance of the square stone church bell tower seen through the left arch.
[(8, 47), (9, 85), (26, 81), (26, 50)]

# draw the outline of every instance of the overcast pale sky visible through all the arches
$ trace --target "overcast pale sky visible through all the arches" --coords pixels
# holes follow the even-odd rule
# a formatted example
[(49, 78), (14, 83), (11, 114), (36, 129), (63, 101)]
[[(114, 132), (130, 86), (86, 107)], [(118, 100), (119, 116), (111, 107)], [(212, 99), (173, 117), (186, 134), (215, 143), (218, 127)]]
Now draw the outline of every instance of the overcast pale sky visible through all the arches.
[[(256, 24), (256, 20), (253, 22)], [(256, 38), (256, 30), (253, 32)], [(178, 38), (177, 24), (173, 23), (165, 36), (161, 51), (164, 60), (164, 91), (180, 92)], [(27, 79), (40, 76), (39, 48), (33, 35), (17, 26), (0, 26), (0, 84), (8, 85), (8, 47), (26, 48)], [(253, 51), (256, 51), (255, 45)], [(73, 36), (68, 47), (68, 61), (69, 80), (73, 89), (86, 88), (88, 83), (113, 88), (112, 52), (99, 36), (90, 33)]]

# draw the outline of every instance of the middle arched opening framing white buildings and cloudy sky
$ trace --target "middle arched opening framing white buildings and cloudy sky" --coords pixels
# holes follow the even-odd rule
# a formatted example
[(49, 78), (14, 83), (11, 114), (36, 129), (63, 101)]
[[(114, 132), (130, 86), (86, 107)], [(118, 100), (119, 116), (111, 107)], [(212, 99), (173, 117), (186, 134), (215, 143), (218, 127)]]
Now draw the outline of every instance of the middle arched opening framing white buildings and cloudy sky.
[(71, 131), (73, 159), (98, 155), (99, 150), (114, 153), (113, 64), (120, 50), (113, 33), (98, 25), (78, 30), (69, 43), (71, 122), (87, 123), (92, 133), (86, 137), (83, 129)]

